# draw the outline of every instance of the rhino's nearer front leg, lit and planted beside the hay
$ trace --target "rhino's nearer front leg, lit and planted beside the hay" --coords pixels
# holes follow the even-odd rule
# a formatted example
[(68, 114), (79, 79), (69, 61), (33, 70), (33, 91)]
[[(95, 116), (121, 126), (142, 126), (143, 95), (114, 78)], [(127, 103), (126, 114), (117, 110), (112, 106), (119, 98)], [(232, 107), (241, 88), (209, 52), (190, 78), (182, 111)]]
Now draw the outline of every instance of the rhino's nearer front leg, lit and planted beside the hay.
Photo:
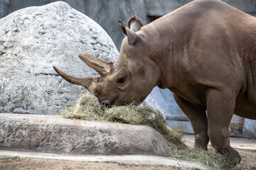
[(210, 89), (206, 95), (208, 113), (208, 135), (210, 142), (218, 152), (228, 153), (240, 162), (239, 153), (230, 147), (228, 126), (235, 111), (235, 98), (228, 93)]

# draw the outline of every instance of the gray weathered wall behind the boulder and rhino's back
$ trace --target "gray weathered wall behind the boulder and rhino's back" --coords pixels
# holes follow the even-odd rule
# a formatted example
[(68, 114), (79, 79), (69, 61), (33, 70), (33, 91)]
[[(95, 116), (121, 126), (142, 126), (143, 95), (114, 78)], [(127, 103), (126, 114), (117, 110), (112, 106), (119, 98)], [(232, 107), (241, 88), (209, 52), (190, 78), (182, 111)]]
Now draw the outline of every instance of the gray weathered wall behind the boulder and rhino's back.
[[(0, 18), (27, 6), (41, 6), (56, 0), (0, 0)], [(164, 16), (192, 0), (64, 0), (70, 6), (92, 18), (107, 31), (117, 49), (123, 33), (119, 30), (119, 18), (126, 23), (133, 15), (148, 23), (147, 16)], [(256, 16), (255, 0), (223, 0), (250, 15)]]

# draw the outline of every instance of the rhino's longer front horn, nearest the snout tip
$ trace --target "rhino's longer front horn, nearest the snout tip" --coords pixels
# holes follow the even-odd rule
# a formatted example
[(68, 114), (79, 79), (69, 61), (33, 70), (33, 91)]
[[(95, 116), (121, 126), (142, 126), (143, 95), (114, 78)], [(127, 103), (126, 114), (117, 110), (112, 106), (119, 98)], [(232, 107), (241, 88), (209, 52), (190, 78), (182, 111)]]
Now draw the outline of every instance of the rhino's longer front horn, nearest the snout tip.
[(97, 81), (98, 81), (97, 77), (72, 77), (68, 74), (65, 74), (65, 72), (60, 71), (60, 69), (58, 69), (55, 66), (53, 66), (53, 69), (66, 81), (72, 84), (85, 86), (85, 89), (87, 89), (87, 91), (95, 93), (95, 89), (97, 88)]

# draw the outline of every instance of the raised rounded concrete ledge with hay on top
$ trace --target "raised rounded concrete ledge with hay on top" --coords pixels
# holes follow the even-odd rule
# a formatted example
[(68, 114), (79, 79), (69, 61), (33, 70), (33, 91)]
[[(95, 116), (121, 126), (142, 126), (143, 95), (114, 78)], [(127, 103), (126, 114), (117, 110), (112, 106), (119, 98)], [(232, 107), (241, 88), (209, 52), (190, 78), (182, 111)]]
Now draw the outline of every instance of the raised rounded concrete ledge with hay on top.
[(164, 137), (147, 126), (0, 113), (0, 149), (164, 156), (166, 147)]

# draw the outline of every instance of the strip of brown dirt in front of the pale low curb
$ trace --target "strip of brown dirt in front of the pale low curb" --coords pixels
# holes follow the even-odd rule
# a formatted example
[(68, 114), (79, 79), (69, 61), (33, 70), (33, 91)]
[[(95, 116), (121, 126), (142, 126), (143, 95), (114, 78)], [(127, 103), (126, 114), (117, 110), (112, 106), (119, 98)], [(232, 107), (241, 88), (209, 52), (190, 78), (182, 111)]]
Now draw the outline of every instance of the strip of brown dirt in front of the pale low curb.
[(0, 169), (2, 170), (172, 170), (180, 169), (172, 166), (152, 166), (136, 164), (102, 163), (102, 162), (72, 162), (50, 159), (21, 159), (19, 157), (0, 158)]

